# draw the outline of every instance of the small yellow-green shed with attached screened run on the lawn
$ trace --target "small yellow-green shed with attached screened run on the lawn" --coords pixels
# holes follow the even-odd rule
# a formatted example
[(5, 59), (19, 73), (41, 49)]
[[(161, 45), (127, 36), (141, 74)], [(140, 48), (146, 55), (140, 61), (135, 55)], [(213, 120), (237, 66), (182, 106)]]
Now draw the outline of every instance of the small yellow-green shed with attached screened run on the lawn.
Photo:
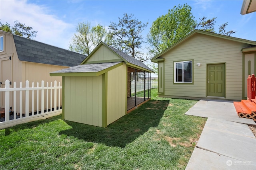
[[(150, 100), (151, 72), (137, 59), (101, 42), (81, 65), (50, 76), (62, 76), (65, 120), (106, 127)], [(144, 81), (142, 92), (131, 86), (138, 80)]]

